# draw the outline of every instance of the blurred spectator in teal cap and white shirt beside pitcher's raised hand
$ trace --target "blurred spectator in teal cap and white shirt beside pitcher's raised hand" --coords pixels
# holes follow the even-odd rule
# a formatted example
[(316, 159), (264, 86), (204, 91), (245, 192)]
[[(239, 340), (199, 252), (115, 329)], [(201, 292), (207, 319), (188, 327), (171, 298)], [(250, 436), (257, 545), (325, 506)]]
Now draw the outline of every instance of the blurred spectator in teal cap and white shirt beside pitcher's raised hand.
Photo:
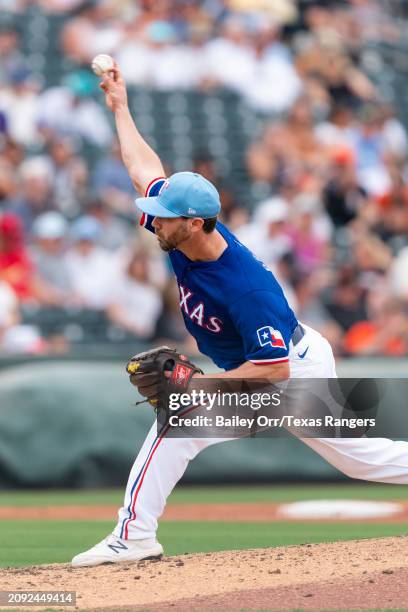
[(47, 138), (72, 136), (95, 147), (109, 147), (113, 134), (101, 106), (93, 99), (97, 79), (88, 70), (78, 70), (41, 94), (38, 125)]

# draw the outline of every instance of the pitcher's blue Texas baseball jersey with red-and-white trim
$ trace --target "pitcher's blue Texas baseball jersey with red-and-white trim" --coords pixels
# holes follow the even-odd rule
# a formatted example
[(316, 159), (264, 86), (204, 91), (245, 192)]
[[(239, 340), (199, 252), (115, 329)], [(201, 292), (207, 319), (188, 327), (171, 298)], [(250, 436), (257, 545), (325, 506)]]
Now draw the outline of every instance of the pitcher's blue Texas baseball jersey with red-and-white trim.
[[(153, 181), (146, 196), (158, 195), (163, 183)], [(153, 219), (143, 214), (140, 223), (154, 232)], [(222, 223), (216, 229), (228, 245), (216, 261), (191, 261), (177, 249), (169, 253), (188, 331), (200, 352), (224, 370), (245, 361), (288, 361), (298, 322), (279, 283)]]

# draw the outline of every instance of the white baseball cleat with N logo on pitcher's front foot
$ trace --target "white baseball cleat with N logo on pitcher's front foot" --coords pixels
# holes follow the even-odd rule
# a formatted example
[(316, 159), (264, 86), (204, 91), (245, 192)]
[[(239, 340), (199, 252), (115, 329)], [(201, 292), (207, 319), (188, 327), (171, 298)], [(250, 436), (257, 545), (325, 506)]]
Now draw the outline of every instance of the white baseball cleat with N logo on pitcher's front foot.
[(142, 559), (157, 559), (163, 554), (163, 547), (155, 538), (146, 540), (122, 540), (113, 533), (89, 550), (76, 555), (71, 565), (90, 567), (102, 563), (125, 563)]

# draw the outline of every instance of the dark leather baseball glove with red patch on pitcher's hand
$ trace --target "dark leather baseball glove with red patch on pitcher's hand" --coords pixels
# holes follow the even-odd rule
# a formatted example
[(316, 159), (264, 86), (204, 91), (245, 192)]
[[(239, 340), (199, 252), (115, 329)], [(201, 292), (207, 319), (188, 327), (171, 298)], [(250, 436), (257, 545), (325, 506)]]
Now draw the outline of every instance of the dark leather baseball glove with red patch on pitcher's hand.
[(126, 366), (130, 382), (155, 409), (166, 408), (170, 393), (184, 393), (191, 378), (202, 370), (168, 346), (134, 355)]

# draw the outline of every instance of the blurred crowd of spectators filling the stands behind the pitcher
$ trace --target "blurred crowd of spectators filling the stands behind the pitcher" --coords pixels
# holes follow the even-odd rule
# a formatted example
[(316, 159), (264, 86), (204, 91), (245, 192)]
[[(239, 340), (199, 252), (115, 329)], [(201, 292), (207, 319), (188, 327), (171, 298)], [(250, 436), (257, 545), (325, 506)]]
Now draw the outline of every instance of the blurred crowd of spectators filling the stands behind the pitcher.
[(18, 27), (32, 0), (0, 1), (14, 17), (0, 20), (0, 352), (69, 350), (27, 324), (30, 309), (103, 313), (130, 340), (194, 350), (88, 68), (103, 52), (129, 85), (239, 95), (261, 120), (245, 160), (263, 197), (229, 190), (203, 143), (194, 169), (220, 189), (222, 220), (337, 355), (408, 353), (407, 132), (361, 61), (367, 40), (398, 43), (379, 2), (36, 4), (66, 16), (73, 69), (45, 87)]

